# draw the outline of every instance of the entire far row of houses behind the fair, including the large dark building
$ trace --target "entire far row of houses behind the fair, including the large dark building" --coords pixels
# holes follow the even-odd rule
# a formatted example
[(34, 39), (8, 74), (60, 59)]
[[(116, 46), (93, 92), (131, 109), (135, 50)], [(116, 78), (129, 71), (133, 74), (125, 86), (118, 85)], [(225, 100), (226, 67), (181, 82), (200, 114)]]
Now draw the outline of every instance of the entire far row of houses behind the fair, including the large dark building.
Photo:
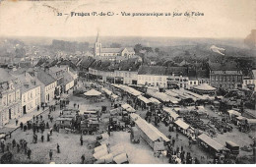
[[(216, 88), (250, 88), (255, 90), (255, 70), (252, 77), (244, 77), (234, 65), (209, 64), (207, 69), (186, 66), (147, 66), (127, 60), (118, 65), (106, 61), (88, 64), (88, 74), (92, 79), (109, 83), (141, 84), (166, 88), (183, 87), (190, 89), (203, 83)], [(254, 75), (253, 75), (254, 74)]]

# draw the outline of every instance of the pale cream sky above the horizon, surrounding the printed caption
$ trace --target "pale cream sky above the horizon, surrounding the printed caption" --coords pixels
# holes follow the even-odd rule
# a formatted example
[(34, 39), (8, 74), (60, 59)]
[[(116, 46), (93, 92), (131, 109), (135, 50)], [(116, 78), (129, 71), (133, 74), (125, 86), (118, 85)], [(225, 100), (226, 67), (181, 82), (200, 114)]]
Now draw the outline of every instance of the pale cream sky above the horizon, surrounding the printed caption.
[[(114, 16), (71, 17), (71, 12)], [(124, 17), (182, 13), (180, 17)], [(204, 16), (183, 16), (200, 12)], [(62, 16), (57, 16), (62, 13)], [(64, 15), (68, 14), (68, 15)], [(0, 2), (0, 36), (174, 36), (244, 38), (256, 28), (256, 0), (80, 0)]]

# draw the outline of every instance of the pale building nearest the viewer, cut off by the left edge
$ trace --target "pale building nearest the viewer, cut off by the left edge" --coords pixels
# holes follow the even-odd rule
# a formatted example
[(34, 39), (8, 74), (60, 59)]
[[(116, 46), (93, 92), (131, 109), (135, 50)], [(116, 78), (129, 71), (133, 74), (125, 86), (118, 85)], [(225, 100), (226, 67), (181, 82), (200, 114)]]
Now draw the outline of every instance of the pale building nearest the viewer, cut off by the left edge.
[(21, 83), (5, 69), (0, 68), (0, 127), (22, 116)]

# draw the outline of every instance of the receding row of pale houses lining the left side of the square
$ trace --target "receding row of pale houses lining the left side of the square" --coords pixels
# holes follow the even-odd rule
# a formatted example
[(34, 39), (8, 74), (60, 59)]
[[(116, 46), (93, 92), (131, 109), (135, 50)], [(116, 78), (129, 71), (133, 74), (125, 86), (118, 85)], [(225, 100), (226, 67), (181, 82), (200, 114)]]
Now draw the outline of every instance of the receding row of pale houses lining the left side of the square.
[(49, 104), (77, 81), (77, 74), (68, 66), (16, 71), (0, 68), (0, 74), (0, 127)]

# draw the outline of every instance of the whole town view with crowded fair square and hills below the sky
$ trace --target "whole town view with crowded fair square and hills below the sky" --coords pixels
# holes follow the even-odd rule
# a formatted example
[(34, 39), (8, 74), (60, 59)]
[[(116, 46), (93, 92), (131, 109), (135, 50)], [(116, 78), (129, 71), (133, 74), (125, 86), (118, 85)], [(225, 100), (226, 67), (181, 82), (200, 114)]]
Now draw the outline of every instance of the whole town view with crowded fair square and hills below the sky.
[(2, 37), (0, 163), (254, 164), (255, 53), (255, 29)]

